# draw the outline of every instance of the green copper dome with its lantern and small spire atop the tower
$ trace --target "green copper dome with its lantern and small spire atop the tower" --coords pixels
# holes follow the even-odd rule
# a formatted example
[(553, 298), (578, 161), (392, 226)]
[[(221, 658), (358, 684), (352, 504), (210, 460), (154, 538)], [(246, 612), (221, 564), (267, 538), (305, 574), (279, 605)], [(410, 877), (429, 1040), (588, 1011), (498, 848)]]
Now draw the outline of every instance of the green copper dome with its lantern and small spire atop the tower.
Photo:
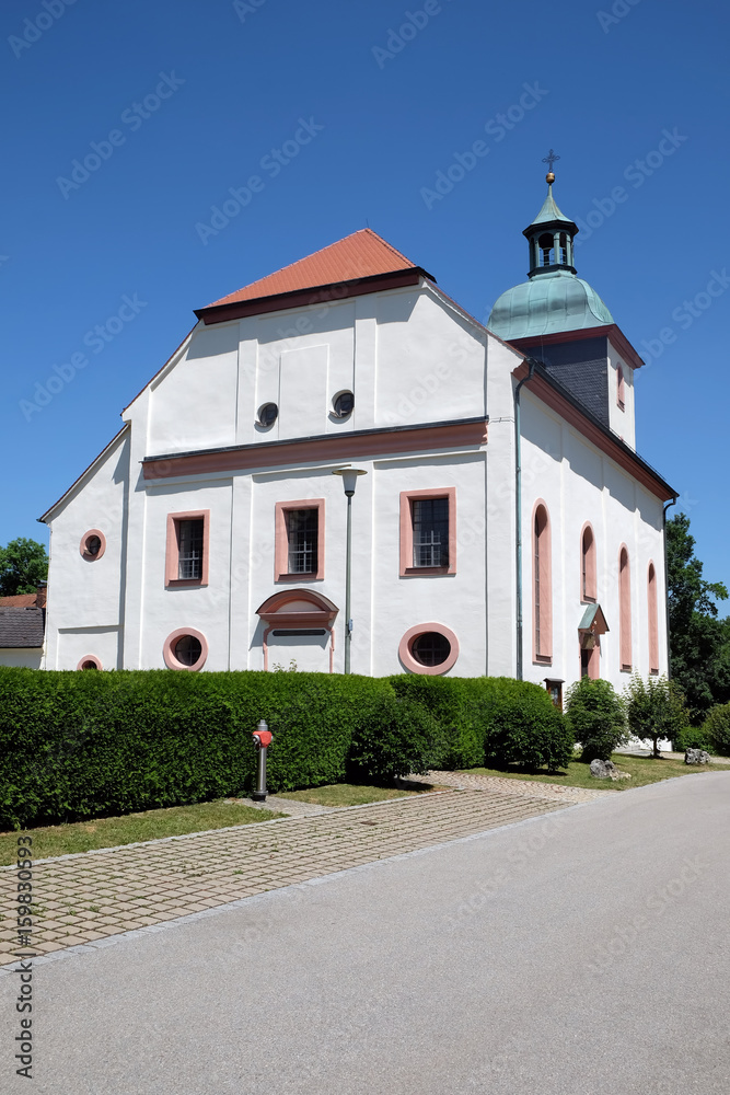
[(528, 280), (503, 292), (487, 321), (505, 342), (614, 322), (598, 292), (576, 274), (572, 256), (578, 226), (555, 204), (554, 178), (551, 172), (543, 207), (522, 233), (530, 246)]

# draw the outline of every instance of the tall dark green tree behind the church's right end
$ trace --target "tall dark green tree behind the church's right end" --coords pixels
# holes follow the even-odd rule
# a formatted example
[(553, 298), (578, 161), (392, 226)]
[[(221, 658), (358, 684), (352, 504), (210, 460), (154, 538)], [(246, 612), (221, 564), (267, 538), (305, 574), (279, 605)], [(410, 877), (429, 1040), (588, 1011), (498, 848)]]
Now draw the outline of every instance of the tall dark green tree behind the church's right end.
[(667, 522), (667, 585), (672, 679), (699, 725), (714, 704), (730, 700), (730, 621), (717, 619), (716, 601), (728, 590), (703, 578), (686, 514)]

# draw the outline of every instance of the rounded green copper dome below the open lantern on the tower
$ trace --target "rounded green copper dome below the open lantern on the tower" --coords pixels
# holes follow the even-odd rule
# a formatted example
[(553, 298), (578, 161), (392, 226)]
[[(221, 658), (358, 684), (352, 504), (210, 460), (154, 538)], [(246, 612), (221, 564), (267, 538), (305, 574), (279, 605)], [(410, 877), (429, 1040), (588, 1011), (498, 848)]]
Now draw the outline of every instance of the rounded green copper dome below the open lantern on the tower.
[(569, 270), (552, 270), (503, 292), (491, 309), (487, 326), (505, 342), (511, 342), (613, 322), (588, 281)]

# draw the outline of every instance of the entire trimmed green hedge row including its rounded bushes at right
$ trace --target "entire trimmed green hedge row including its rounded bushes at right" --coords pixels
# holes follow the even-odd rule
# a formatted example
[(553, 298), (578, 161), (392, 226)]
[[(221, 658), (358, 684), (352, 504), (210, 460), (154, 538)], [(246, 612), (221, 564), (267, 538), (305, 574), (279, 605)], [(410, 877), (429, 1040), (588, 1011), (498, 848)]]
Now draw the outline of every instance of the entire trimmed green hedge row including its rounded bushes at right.
[(260, 718), (273, 793), (572, 752), (547, 693), (509, 678), (0, 667), (0, 829), (248, 792)]

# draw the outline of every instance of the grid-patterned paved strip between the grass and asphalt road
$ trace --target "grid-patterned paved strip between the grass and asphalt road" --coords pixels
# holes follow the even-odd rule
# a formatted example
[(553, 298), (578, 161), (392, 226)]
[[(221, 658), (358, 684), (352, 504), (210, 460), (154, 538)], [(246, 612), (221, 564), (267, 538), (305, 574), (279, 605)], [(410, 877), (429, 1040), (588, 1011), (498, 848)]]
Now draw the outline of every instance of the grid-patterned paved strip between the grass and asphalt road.
[[(437, 792), (38, 860), (33, 949), (90, 943), (571, 805), (503, 782), (508, 794)], [(286, 808), (279, 797), (267, 805)], [(16, 881), (14, 867), (0, 868), (0, 965), (18, 949)]]

